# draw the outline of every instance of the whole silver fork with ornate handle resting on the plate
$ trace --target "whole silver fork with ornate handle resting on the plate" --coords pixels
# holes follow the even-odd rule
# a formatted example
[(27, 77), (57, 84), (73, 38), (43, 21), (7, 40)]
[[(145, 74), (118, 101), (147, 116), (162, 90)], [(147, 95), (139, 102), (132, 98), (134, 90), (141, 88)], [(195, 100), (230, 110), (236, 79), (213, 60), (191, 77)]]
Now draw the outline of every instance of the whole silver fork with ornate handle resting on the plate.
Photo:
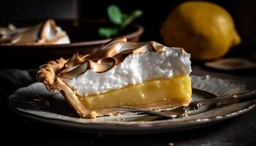
[(256, 90), (243, 91), (240, 93), (231, 93), (225, 96), (217, 96), (214, 99), (206, 99), (202, 101), (192, 101), (188, 106), (174, 107), (171, 110), (147, 110), (139, 107), (117, 106), (116, 110), (129, 112), (143, 112), (149, 115), (160, 115), (165, 118), (181, 118), (187, 115), (191, 110), (198, 110), (200, 107), (212, 104), (222, 104), (230, 101), (248, 101), (256, 99)]

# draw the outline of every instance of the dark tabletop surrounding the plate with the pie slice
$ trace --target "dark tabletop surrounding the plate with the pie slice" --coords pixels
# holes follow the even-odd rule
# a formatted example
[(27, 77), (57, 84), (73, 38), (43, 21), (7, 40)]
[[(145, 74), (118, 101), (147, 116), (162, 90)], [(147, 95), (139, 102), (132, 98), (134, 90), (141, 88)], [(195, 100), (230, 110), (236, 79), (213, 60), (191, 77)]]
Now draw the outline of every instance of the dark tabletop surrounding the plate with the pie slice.
[[(238, 80), (256, 88), (255, 69), (220, 72), (202, 65), (192, 66), (193, 74)], [(21, 74), (21, 75), (19, 75)], [(212, 126), (188, 131), (146, 135), (86, 134), (65, 130), (17, 115), (7, 107), (7, 96), (20, 86), (34, 82), (35, 70), (1, 70), (1, 143), (19, 145), (256, 145), (256, 109)], [(12, 76), (23, 78), (11, 79)], [(24, 80), (26, 78), (27, 80)], [(9, 80), (18, 81), (16, 85)], [(4, 82), (9, 82), (3, 85)], [(20, 85), (19, 85), (20, 84)]]

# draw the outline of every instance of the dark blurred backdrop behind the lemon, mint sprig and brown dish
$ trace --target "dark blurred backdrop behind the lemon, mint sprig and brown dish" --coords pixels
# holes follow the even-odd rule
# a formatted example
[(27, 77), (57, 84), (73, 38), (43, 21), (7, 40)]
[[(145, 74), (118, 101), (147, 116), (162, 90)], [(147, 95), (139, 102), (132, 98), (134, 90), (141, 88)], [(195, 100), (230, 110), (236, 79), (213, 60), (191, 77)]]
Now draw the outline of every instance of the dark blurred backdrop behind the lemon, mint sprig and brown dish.
[[(169, 12), (180, 4), (181, 0), (8, 0), (0, 1), (0, 23), (15, 23), (24, 20), (42, 19), (102, 19), (107, 18), (106, 8), (109, 4), (117, 4), (123, 12), (132, 12), (134, 9), (143, 10), (143, 16), (135, 21), (144, 26), (142, 41), (156, 40), (162, 42), (159, 29)], [(256, 46), (256, 12), (255, 1), (225, 0), (211, 1), (227, 9), (232, 15), (238, 34), (241, 36), (243, 49), (252, 49)], [(84, 32), (86, 33), (86, 32)]]

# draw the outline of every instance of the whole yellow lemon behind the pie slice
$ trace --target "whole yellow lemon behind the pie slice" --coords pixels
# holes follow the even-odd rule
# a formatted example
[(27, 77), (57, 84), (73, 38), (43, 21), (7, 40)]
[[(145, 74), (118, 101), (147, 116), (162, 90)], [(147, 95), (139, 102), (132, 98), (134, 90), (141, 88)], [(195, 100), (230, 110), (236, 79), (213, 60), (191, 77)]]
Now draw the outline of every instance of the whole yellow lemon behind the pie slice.
[(162, 24), (165, 45), (184, 47), (197, 60), (225, 55), (241, 42), (231, 15), (206, 1), (188, 1), (170, 12)]

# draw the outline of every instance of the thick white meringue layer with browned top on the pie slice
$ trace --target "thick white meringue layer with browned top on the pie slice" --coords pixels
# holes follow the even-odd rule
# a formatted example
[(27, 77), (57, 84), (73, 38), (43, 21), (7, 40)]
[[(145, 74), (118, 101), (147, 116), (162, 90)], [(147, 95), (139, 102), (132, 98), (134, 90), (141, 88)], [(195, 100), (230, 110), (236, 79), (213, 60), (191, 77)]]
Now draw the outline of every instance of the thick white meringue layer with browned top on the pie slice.
[(190, 55), (182, 48), (165, 47), (157, 42), (127, 42), (119, 37), (94, 52), (76, 53), (56, 74), (80, 96), (150, 80), (167, 80), (192, 71)]

